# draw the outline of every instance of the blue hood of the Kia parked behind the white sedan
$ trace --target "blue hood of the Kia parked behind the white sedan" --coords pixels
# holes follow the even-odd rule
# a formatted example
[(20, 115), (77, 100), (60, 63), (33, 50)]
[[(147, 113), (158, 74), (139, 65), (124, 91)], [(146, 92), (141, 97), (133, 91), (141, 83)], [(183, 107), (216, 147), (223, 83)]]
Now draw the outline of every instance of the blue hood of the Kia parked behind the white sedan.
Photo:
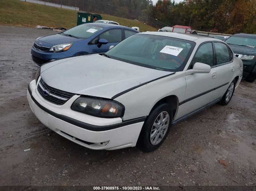
[[(77, 41), (81, 41), (84, 39), (78, 39), (78, 38), (69, 37), (69, 36), (61, 35), (61, 34), (53, 34), (53, 35), (39, 38), (38, 40), (48, 43), (48, 44), (58, 45), (58, 44), (63, 44), (63, 43), (77, 42)], [(40, 45), (40, 46), (43, 46), (43, 45)]]

